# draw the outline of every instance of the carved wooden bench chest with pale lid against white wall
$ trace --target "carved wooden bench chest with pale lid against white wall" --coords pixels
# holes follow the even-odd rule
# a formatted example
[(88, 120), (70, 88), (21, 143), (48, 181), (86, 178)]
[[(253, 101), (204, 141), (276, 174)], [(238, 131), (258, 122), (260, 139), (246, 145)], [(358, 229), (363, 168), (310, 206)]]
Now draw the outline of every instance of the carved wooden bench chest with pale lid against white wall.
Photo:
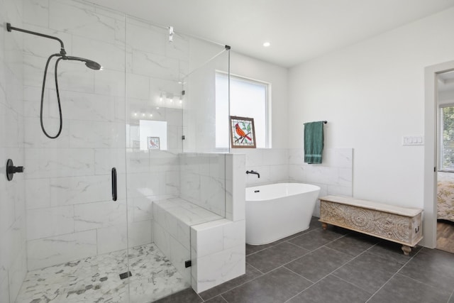
[(370, 236), (402, 244), (405, 255), (423, 238), (422, 209), (392, 206), (350, 197), (320, 198), (320, 219)]

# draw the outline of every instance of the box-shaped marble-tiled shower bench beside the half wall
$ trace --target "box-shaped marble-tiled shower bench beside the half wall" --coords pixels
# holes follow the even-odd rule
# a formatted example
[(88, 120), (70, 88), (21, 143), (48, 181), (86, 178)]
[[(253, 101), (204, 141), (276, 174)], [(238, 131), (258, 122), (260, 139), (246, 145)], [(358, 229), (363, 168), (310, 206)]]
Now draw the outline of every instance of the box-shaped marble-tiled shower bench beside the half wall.
[(153, 217), (155, 244), (196, 292), (244, 274), (244, 220), (225, 219), (181, 198), (153, 202)]

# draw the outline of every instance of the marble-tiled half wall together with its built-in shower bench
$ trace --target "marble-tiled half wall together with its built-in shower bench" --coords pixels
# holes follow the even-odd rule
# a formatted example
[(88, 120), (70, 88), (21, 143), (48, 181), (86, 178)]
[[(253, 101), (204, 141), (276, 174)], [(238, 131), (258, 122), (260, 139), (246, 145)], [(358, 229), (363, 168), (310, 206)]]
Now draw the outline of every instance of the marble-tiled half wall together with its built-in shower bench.
[[(245, 273), (245, 156), (193, 153), (180, 158), (182, 176), (190, 177), (182, 177), (182, 197), (153, 203), (154, 241), (194, 290), (202, 292)], [(189, 182), (204, 174), (225, 175), (225, 187), (211, 189), (223, 196), (222, 215), (188, 200), (210, 192)], [(192, 260), (191, 268), (184, 268), (185, 260)]]

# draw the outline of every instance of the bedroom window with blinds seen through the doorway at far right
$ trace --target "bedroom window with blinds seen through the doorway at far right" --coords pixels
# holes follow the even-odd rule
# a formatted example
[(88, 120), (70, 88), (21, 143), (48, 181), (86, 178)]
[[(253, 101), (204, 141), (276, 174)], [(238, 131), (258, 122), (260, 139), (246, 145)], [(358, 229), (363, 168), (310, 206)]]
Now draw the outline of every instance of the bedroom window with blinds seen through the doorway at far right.
[(454, 106), (440, 108), (440, 167), (454, 171)]

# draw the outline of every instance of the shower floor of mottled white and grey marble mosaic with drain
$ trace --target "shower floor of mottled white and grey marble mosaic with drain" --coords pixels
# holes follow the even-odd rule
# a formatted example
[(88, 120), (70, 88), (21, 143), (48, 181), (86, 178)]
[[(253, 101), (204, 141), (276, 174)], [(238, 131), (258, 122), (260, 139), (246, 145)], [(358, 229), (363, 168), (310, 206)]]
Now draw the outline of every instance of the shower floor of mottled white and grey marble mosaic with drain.
[[(128, 271), (132, 276), (121, 279)], [(190, 287), (154, 243), (28, 272), (17, 303), (153, 302)]]

